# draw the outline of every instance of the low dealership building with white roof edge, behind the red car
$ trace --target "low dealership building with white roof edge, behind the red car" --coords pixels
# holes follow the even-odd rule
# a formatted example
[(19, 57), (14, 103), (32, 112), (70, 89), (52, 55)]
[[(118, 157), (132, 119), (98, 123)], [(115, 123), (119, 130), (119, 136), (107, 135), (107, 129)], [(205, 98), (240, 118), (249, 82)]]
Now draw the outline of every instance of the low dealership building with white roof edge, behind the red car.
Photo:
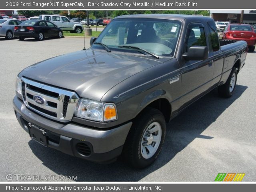
[[(231, 23), (240, 23), (241, 10), (211, 10), (210, 16), (215, 21), (228, 21)], [(243, 23), (256, 23), (256, 10), (244, 10)]]

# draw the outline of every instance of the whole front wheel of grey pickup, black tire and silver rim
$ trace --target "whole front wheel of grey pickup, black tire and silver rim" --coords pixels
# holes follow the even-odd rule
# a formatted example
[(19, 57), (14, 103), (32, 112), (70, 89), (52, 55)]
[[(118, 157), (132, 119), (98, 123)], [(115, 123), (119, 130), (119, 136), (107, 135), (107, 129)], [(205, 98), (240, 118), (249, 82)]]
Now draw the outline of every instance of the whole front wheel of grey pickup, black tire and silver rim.
[(134, 168), (149, 166), (160, 154), (165, 135), (163, 114), (154, 108), (147, 108), (133, 122), (124, 144), (124, 159)]

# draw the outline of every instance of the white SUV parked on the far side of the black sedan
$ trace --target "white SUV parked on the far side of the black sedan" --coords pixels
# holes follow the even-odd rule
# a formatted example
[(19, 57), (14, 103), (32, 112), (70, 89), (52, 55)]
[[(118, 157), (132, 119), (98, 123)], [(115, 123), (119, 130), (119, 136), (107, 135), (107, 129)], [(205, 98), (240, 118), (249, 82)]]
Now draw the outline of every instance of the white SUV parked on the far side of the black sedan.
[(40, 15), (40, 20), (51, 21), (63, 31), (82, 33), (83, 26), (81, 23), (72, 22), (67, 17), (61, 15)]

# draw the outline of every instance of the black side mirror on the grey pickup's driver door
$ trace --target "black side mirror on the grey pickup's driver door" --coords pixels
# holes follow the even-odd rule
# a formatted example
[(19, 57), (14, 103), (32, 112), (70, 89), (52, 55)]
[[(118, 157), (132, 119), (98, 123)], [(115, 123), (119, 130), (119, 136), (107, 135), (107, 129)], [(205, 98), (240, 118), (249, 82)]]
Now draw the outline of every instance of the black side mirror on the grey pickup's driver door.
[(206, 46), (191, 46), (187, 53), (184, 53), (185, 60), (206, 60), (208, 58), (208, 48)]

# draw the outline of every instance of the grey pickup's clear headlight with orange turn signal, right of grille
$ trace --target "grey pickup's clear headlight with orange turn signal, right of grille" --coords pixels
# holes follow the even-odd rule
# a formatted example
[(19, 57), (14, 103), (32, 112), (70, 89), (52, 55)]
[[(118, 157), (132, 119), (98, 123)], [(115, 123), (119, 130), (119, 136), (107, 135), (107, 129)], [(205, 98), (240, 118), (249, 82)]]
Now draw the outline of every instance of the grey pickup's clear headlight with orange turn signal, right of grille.
[(80, 99), (76, 106), (75, 116), (100, 122), (117, 120), (116, 106), (113, 103)]

